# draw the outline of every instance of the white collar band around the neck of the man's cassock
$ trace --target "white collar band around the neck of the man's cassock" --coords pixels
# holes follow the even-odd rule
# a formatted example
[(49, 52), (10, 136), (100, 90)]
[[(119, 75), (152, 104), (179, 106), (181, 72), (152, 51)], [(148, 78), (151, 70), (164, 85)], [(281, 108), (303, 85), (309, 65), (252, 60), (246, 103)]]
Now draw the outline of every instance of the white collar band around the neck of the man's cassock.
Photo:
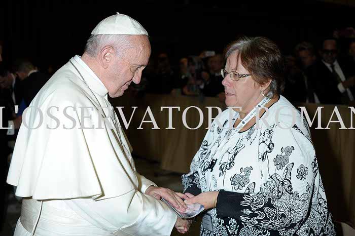
[[(94, 71), (92, 71), (92, 69), (90, 69), (90, 67), (80, 58), (80, 56), (76, 55), (75, 57), (70, 59), (70, 61), (72, 61), (73, 64), (78, 68), (80, 73), (83, 75), (84, 80), (92, 91), (94, 91), (101, 97), (105, 97), (105, 95), (107, 95), (107, 93), (109, 92), (107, 88), (103, 85), (103, 83), (94, 73)], [(74, 71), (76, 71), (75, 68)], [(81, 77), (80, 79), (82, 80)]]

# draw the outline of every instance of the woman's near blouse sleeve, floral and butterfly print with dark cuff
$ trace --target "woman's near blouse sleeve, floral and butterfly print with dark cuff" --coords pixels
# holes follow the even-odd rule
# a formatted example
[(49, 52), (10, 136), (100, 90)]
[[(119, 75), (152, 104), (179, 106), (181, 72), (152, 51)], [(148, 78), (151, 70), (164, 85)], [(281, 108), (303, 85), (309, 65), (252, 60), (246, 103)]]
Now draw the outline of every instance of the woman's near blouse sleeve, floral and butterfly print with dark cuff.
[(306, 133), (297, 125), (281, 129), (277, 124), (261, 132), (260, 190), (220, 190), (218, 217), (234, 218), (279, 235), (333, 235), (313, 144)]

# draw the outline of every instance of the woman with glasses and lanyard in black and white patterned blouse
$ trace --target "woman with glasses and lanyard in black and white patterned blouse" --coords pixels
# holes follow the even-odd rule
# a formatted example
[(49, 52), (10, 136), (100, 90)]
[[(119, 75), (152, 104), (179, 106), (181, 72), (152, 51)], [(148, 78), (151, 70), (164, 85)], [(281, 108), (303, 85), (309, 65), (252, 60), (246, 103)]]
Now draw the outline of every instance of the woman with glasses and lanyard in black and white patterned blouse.
[(335, 235), (307, 123), (279, 95), (279, 49), (244, 37), (226, 58), (225, 103), (239, 108), (215, 119), (183, 175), (186, 203), (207, 209), (200, 235)]

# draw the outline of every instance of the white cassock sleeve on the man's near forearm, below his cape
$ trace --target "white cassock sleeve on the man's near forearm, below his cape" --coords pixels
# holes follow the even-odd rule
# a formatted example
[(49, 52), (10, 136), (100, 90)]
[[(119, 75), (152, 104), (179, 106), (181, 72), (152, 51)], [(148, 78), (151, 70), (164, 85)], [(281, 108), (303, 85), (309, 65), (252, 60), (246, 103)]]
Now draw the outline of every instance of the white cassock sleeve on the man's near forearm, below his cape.
[(170, 235), (177, 217), (163, 202), (136, 190), (100, 201), (79, 198), (65, 202), (88, 222), (119, 235)]

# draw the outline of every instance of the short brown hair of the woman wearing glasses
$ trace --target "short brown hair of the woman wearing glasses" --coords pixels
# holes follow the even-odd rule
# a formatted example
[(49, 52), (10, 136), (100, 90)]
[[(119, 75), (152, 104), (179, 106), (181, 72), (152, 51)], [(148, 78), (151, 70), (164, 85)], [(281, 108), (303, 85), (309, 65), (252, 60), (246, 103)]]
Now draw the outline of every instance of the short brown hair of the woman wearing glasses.
[(271, 80), (267, 96), (279, 95), (284, 88), (283, 57), (277, 45), (267, 37), (243, 36), (225, 49), (227, 59), (238, 51), (241, 64), (253, 76), (254, 81), (264, 85)]

